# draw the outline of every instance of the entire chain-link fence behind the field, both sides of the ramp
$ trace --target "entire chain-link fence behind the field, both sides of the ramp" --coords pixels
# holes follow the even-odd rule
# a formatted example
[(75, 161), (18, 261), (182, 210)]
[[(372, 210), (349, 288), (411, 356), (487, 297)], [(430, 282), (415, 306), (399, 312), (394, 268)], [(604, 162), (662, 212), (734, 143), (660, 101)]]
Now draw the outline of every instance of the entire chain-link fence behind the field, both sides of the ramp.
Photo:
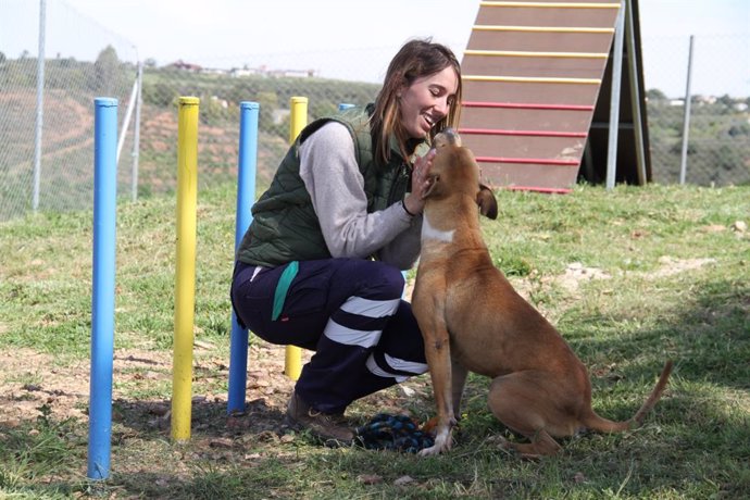
[[(66, 7), (49, 2), (45, 39), (43, 121), (38, 141), (38, 40), (32, 38), (23, 51), (10, 51), (10, 23), (25, 33), (39, 34), (38, 16), (5, 15), (13, 1), (0, 4), (0, 221), (34, 209), (38, 189), (39, 210), (68, 210), (92, 204), (93, 98), (120, 100), (124, 143), (118, 162), (118, 192), (130, 196), (137, 175), (138, 196), (170, 192), (176, 186), (176, 98), (201, 99), (199, 126), (199, 183), (208, 186), (236, 178), (239, 102), (260, 103), (259, 186), (267, 183), (288, 145), (289, 101), (292, 96), (309, 99), (309, 120), (330, 113), (339, 103), (366, 103), (379, 84), (372, 77), (309, 70), (321, 54), (273, 54), (233, 57), (202, 67), (189, 60), (157, 65), (145, 61), (140, 140), (137, 174), (132, 165), (133, 123), (123, 123), (137, 80), (138, 54), (127, 40), (96, 25)], [(8, 3), (10, 2), (10, 3)], [(73, 29), (93, 53), (87, 59), (68, 55), (61, 26)], [(17, 29), (16, 29), (17, 30)], [(70, 35), (70, 34), (68, 34)], [(690, 113), (686, 180), (700, 185), (750, 182), (750, 123), (748, 84), (750, 38), (700, 37), (696, 39), (692, 75), (695, 95)], [(659, 51), (650, 47), (659, 46)], [(663, 49), (671, 48), (670, 51)], [(652, 148), (653, 179), (671, 184), (679, 179), (682, 137), (689, 38), (643, 39), (646, 86), (649, 88), (648, 120)], [(338, 67), (354, 67), (348, 60), (387, 60), (398, 46), (370, 50), (340, 50)], [(667, 61), (651, 61), (657, 53), (671, 53)], [(655, 63), (655, 64), (654, 64)], [(649, 70), (655, 67), (657, 71)], [(380, 70), (385, 72), (385, 67)], [(650, 71), (650, 72), (649, 72)], [(702, 79), (721, 82), (729, 72), (745, 72), (745, 86), (727, 89), (727, 96), (698, 96)], [(373, 73), (372, 71), (370, 72)], [(335, 77), (334, 77), (335, 76)], [(745, 92), (745, 93), (742, 93)], [(133, 122), (133, 121), (130, 121)], [(40, 145), (37, 151), (37, 146)], [(37, 160), (38, 159), (38, 160)], [(35, 168), (38, 164), (38, 171)], [(38, 183), (36, 176), (38, 174)], [(36, 186), (35, 186), (36, 184)]]

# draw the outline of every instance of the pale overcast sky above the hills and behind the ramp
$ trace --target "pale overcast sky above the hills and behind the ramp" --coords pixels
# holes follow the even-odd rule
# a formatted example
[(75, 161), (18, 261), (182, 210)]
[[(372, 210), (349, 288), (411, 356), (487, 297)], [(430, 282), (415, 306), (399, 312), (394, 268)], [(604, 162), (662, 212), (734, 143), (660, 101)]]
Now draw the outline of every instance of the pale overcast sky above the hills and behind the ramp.
[[(0, 0), (0, 51), (8, 57), (22, 50), (36, 54), (39, 3)], [(114, 36), (121, 59), (153, 58), (160, 64), (183, 59), (224, 67), (293, 64), (323, 76), (379, 82), (390, 57), (409, 38), (432, 36), (461, 57), (479, 1), (46, 0), (46, 4), (48, 46), (53, 46), (48, 58), (55, 52), (96, 58), (101, 47), (93, 40)], [(693, 74), (693, 90), (750, 96), (750, 0), (640, 0), (639, 10), (647, 87), (684, 91), (689, 36), (695, 35), (695, 67), (702, 70)], [(701, 58), (708, 65), (700, 65)]]

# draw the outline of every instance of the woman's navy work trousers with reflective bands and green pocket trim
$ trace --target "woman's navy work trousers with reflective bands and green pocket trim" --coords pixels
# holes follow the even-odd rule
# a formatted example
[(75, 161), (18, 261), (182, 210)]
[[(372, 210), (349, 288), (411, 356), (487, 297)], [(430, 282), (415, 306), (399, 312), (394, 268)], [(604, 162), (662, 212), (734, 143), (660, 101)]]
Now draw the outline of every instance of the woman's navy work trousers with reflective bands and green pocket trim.
[(404, 279), (388, 264), (363, 259), (301, 261), (280, 315), (274, 293), (286, 265), (238, 262), (232, 301), (241, 324), (277, 345), (315, 351), (295, 391), (317, 411), (342, 413), (355, 399), (427, 371), (422, 334)]

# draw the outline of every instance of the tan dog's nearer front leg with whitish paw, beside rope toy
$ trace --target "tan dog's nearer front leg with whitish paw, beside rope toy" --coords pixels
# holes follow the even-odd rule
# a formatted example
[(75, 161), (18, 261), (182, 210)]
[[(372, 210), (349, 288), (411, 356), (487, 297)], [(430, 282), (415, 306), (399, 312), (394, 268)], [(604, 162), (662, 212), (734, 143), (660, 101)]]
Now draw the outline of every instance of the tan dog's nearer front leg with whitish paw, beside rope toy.
[[(427, 334), (423, 332), (423, 335)], [(453, 415), (453, 395), (451, 389), (450, 339), (443, 324), (436, 324), (425, 336), (425, 357), (429, 365), (429, 376), (433, 380), (433, 392), (438, 412), (435, 428), (435, 445), (420, 451), (422, 457), (437, 454), (451, 448), (451, 430), (455, 425)]]

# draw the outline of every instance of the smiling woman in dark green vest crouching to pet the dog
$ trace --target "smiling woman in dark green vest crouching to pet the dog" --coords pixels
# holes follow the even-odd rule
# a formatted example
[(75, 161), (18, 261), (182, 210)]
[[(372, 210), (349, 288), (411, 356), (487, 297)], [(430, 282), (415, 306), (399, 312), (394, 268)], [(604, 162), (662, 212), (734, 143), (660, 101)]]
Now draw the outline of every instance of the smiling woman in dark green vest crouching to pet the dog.
[(407, 42), (375, 103), (308, 125), (252, 208), (233, 305), (264, 340), (315, 351), (287, 423), (326, 443), (353, 439), (352, 401), (427, 371), (401, 271), (420, 254), (429, 140), (460, 101), (451, 50)]

